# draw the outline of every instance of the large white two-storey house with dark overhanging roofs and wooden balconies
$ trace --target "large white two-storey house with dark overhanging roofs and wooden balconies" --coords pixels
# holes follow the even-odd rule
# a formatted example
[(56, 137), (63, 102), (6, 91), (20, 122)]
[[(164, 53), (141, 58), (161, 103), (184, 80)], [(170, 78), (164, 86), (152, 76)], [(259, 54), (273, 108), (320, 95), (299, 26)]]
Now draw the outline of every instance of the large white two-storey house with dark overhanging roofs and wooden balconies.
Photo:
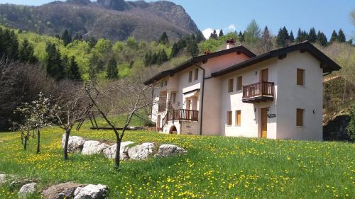
[(310, 42), (256, 56), (229, 40), (144, 84), (161, 132), (322, 140), (322, 79), (340, 68)]

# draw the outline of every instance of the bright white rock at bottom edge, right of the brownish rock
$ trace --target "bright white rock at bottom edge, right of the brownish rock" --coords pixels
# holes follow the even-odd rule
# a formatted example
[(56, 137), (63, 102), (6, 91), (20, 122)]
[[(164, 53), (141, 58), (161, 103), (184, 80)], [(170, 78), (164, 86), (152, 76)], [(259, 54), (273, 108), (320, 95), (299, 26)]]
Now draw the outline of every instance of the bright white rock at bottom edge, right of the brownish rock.
[(74, 199), (102, 199), (107, 196), (108, 192), (109, 188), (107, 186), (89, 184), (84, 187), (78, 187), (75, 190)]

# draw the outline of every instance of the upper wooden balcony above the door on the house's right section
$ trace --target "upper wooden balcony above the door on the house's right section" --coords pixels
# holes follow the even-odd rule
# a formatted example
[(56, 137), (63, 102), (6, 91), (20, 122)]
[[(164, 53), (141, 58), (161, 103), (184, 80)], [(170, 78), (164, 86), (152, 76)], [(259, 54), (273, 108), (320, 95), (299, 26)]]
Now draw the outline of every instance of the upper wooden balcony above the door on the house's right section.
[(261, 81), (256, 84), (243, 86), (244, 103), (259, 103), (273, 101), (274, 84), (273, 82)]

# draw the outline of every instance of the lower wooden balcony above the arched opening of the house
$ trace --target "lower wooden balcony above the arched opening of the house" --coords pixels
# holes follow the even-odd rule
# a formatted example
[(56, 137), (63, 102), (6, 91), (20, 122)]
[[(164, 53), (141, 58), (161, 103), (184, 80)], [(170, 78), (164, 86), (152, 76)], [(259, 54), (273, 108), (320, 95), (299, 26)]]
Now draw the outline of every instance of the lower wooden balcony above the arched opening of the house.
[(163, 118), (163, 126), (168, 123), (168, 121), (175, 120), (189, 120), (189, 121), (198, 121), (199, 111), (198, 110), (187, 110), (187, 109), (178, 109), (178, 110), (169, 110)]

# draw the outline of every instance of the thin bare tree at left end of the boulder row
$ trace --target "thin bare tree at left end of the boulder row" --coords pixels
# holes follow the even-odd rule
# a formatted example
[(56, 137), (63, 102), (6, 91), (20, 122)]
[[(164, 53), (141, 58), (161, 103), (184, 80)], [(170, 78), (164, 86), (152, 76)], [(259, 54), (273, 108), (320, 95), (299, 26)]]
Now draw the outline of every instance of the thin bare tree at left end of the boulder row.
[(75, 123), (85, 118), (89, 110), (89, 101), (85, 95), (81, 84), (75, 84), (73, 81), (62, 81), (60, 84), (62, 96), (53, 108), (55, 124), (62, 130), (65, 130), (64, 159), (68, 159), (68, 141), (70, 132)]

